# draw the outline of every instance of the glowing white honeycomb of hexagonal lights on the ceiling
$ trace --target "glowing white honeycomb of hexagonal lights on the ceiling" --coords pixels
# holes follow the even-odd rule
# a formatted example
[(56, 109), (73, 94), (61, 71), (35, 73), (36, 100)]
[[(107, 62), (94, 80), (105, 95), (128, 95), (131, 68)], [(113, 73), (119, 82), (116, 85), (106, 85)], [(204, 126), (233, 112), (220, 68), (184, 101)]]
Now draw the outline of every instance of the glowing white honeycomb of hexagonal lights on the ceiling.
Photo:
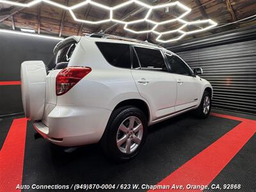
[[(52, 6), (56, 6), (59, 8), (62, 8), (64, 10), (68, 10), (70, 12), (70, 15), (72, 15), (73, 19), (76, 20), (77, 22), (84, 22), (87, 24), (102, 24), (104, 22), (117, 22), (117, 23), (121, 23), (121, 24), (125, 24), (124, 29), (131, 32), (131, 33), (156, 33), (158, 36), (156, 38), (156, 40), (158, 42), (162, 42), (162, 43), (167, 43), (167, 42), (173, 42), (173, 41), (177, 41), (180, 40), (181, 38), (183, 38), (186, 35), (190, 35), (193, 33), (200, 33), (202, 31), (205, 31), (207, 29), (211, 29), (214, 26), (217, 25), (216, 22), (214, 22), (211, 19), (207, 19), (207, 20), (196, 20), (196, 21), (191, 21), (188, 22), (186, 20), (182, 20), (183, 17), (185, 17), (186, 15), (189, 14), (189, 12), (191, 12), (191, 9), (188, 8), (187, 6), (185, 6), (184, 4), (180, 3), (179, 1), (175, 1), (173, 3), (164, 3), (164, 4), (158, 4), (158, 5), (154, 5), (151, 6), (149, 4), (143, 3), (139, 0), (128, 0), (125, 1), (124, 3), (120, 3), (120, 4), (116, 4), (115, 6), (106, 6), (104, 4), (101, 3), (97, 3), (93, 0), (85, 0), (82, 1), (81, 3), (77, 3), (74, 4), (72, 6), (65, 6), (63, 4), (60, 3), (56, 3), (55, 1), (51, 1), (51, 0), (33, 0), (29, 3), (20, 3), (17, 1), (8, 1), (8, 0), (0, 0), (0, 3), (6, 3), (6, 4), (12, 4), (14, 6), (22, 6), (22, 7), (30, 7), (30, 6), (34, 6), (35, 4), (38, 4), (40, 2), (44, 2), (47, 4), (51, 4)], [(145, 17), (143, 17), (143, 19), (137, 19), (137, 20), (130, 20), (130, 21), (124, 21), (121, 19), (116, 19), (113, 18), (113, 12), (115, 12), (116, 10), (120, 9), (120, 8), (124, 8), (125, 6), (130, 6), (131, 4), (138, 4), (139, 6), (143, 6), (145, 9), (147, 10), (147, 14), (145, 15)], [(77, 8), (81, 8), (82, 6), (86, 6), (87, 4), (92, 4), (93, 6), (96, 6), (98, 8), (104, 9), (105, 11), (109, 12), (109, 17), (108, 19), (102, 19), (102, 20), (84, 20), (84, 19), (78, 19), (75, 15), (75, 13), (73, 12), (73, 10), (76, 10)], [(165, 17), (163, 20), (160, 21), (156, 21), (153, 20), (152, 18), (150, 18), (150, 15), (152, 15), (154, 12), (159, 12), (159, 10), (161, 10), (162, 8), (179, 8), (180, 11), (180, 15), (175, 17), (175, 18), (168, 18)], [(168, 16), (168, 15), (167, 15)], [(131, 25), (132, 24), (139, 24), (139, 23), (145, 23), (147, 22), (148, 24), (154, 25), (152, 28), (147, 29), (147, 30), (134, 30), (131, 29)], [(180, 28), (178, 29), (165, 29), (164, 31), (160, 31), (158, 29), (159, 26), (164, 26), (164, 25), (168, 25), (172, 22), (180, 22), (182, 23), (182, 26), (180, 26)], [(188, 31), (183, 31), (182, 29), (184, 29), (185, 27), (188, 26), (198, 26), (200, 24), (204, 24), (206, 26), (203, 27), (199, 27), (199, 29), (195, 29), (195, 30), (188, 30)], [(174, 34), (172, 35), (172, 33), (174, 34), (180, 34), (179, 36), (175, 36)], [(174, 38), (170, 38), (170, 39), (166, 39), (164, 38), (164, 36), (175, 36)]]

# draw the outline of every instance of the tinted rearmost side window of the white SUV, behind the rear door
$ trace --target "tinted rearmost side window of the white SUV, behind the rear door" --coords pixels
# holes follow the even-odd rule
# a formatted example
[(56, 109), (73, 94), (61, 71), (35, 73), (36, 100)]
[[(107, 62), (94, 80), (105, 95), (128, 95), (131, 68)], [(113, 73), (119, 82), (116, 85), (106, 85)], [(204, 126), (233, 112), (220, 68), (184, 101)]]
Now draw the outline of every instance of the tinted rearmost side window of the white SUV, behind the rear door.
[(115, 67), (131, 68), (131, 52), (129, 45), (105, 42), (97, 42), (96, 44), (108, 63)]

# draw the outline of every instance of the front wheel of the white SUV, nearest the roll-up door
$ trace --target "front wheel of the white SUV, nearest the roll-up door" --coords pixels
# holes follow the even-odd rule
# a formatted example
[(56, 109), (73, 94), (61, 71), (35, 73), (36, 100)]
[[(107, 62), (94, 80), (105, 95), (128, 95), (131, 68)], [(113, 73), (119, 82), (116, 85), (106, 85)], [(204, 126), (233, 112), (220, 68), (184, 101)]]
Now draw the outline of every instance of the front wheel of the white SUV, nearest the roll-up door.
[(198, 118), (207, 118), (210, 115), (210, 113), (211, 113), (211, 93), (205, 91), (199, 107), (195, 110), (195, 115)]

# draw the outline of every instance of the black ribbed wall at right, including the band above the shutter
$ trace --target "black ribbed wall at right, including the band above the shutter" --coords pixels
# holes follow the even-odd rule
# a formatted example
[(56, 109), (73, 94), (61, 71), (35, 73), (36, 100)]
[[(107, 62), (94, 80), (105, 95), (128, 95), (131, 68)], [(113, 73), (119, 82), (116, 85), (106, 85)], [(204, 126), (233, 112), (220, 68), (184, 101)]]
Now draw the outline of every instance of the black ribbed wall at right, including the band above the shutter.
[(213, 87), (212, 106), (256, 114), (256, 28), (229, 31), (168, 47)]

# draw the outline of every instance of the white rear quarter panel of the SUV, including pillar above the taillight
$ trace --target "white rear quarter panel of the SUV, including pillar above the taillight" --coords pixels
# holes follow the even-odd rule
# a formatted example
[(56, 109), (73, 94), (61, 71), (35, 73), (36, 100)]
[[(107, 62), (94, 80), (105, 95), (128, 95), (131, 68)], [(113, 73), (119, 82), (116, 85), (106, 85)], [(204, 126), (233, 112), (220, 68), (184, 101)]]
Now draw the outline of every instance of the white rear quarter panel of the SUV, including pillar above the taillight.
[(81, 38), (68, 66), (91, 67), (92, 72), (67, 93), (58, 96), (58, 105), (113, 110), (123, 100), (144, 100), (138, 93), (131, 69), (110, 65), (94, 40)]

